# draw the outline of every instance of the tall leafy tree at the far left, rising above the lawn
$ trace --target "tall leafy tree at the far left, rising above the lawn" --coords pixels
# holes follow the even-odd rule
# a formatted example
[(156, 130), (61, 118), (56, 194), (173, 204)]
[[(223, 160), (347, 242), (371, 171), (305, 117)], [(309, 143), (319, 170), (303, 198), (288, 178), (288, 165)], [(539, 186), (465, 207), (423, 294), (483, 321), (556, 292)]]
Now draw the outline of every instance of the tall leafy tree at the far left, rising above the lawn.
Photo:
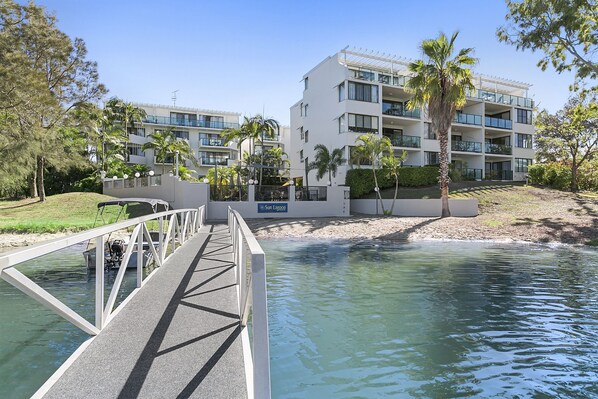
[(44, 201), (45, 169), (62, 167), (69, 157), (62, 129), (70, 123), (70, 111), (97, 101), (105, 88), (96, 63), (86, 60), (83, 40), (71, 40), (56, 18), (33, 2), (3, 0), (0, 54), (0, 109), (14, 116), (17, 126), (8, 151), (26, 158), (31, 194)]

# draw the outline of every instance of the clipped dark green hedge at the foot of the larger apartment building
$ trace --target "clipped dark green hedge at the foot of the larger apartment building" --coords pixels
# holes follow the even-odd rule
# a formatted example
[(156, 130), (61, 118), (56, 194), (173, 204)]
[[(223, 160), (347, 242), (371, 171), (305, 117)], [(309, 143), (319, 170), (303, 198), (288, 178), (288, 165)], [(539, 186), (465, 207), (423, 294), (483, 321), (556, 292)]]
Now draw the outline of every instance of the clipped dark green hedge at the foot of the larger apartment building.
[[(399, 170), (399, 186), (421, 187), (438, 183), (438, 166), (422, 166), (421, 168), (401, 168)], [(394, 187), (394, 178), (388, 176), (384, 169), (376, 171), (378, 185), (381, 189)], [(359, 198), (374, 191), (374, 176), (371, 169), (350, 169), (347, 172), (345, 185), (351, 187), (351, 198)]]

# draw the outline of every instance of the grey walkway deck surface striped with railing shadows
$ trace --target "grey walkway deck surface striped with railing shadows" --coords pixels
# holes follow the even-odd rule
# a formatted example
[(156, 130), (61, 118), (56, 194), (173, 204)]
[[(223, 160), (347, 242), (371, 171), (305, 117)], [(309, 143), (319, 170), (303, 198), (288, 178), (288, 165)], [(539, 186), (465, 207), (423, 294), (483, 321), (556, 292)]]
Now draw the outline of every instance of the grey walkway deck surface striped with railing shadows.
[(246, 398), (231, 242), (204, 226), (44, 398)]

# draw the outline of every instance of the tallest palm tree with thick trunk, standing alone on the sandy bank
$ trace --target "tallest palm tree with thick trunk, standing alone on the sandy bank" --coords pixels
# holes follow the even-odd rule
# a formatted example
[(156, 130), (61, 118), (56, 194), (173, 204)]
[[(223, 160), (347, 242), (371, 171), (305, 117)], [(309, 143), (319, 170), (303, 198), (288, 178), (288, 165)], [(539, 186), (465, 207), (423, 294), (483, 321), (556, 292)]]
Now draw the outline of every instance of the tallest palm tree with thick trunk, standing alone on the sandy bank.
[(472, 72), (467, 68), (477, 62), (471, 57), (473, 48), (461, 49), (451, 58), (458, 34), (455, 32), (448, 39), (441, 33), (437, 39), (424, 40), (420, 47), (425, 59), (409, 64), (413, 76), (406, 84), (407, 90), (413, 93), (408, 108), (428, 108), (432, 130), (439, 140), (441, 217), (451, 216), (448, 204), (448, 132), (457, 109), (465, 105), (467, 91), (475, 89)]

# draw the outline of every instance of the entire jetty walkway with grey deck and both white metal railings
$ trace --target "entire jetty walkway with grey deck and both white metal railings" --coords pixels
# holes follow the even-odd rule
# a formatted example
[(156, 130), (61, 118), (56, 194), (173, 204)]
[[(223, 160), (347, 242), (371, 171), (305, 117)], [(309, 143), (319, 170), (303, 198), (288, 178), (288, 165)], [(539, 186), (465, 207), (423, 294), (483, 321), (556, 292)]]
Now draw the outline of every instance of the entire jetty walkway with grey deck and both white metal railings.
[[(203, 206), (171, 210), (0, 256), (0, 278), (91, 336), (33, 397), (269, 399), (265, 255), (238, 212), (227, 222), (206, 224)], [(158, 241), (144, 245), (152, 223)], [(104, 248), (123, 229), (121, 264), (137, 253), (137, 288), (115, 308), (126, 269), (105, 298)], [(15, 266), (94, 240), (92, 324)], [(150, 252), (158, 267), (144, 277)]]

